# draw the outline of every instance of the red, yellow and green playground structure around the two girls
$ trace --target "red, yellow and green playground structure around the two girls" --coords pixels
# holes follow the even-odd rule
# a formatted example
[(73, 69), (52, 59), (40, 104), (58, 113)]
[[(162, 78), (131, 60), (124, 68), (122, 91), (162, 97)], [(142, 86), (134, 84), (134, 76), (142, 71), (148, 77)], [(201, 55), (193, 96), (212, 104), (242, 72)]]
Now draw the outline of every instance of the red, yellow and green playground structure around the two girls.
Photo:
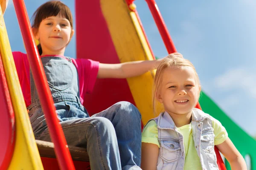
[[(156, 3), (154, 0), (146, 1), (168, 53), (175, 52), (175, 46)], [(63, 132), (58, 125), (44, 70), (41, 62), (38, 62), (40, 61), (38, 51), (34, 48), (35, 41), (29, 26), (24, 2), (23, 0), (13, 0), (13, 2), (29, 62), (33, 63), (31, 65), (32, 73), (36, 77), (35, 82), (40, 101), (52, 134), (52, 141), (55, 143), (55, 153), (58, 159), (54, 158), (52, 143), (35, 142), (17, 78), (3, 15), (0, 11), (0, 106), (3, 110), (3, 119), (0, 120), (0, 129), (2, 130), (0, 170), (84, 169), (89, 165), (86, 150), (70, 146), (70, 150), (68, 150)], [(84, 6), (90, 6), (90, 8), (84, 10)], [(94, 0), (90, 2), (76, 0), (76, 34), (79, 35), (76, 38), (77, 58), (87, 57), (102, 63), (154, 59), (153, 51), (145, 36), (133, 0)], [(99, 79), (95, 84), (93, 94), (87, 95), (85, 98), (84, 106), (92, 115), (116, 102), (128, 101), (140, 110), (142, 123), (145, 125), (149, 119), (155, 117), (151, 101), (153, 77), (154, 71), (129, 79)], [(211, 114), (226, 127), (230, 139), (242, 156), (250, 156), (251, 169), (256, 170), (256, 141), (228, 118), (206, 94), (202, 93), (199, 103), (198, 108), (201, 106), (203, 111)], [(78, 155), (79, 150), (81, 155)], [(221, 162), (218, 150), (216, 153), (218, 165), (223, 170), (225, 167)], [(60, 167), (58, 167), (57, 160)], [(227, 169), (230, 169), (229, 165), (226, 165)]]

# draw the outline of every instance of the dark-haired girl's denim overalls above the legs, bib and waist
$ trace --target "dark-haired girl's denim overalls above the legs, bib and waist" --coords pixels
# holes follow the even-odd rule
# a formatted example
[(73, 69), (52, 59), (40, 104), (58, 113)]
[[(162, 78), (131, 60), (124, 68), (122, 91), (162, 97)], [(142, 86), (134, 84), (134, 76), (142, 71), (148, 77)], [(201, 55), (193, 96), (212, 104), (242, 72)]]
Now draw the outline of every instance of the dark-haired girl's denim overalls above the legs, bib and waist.
[[(59, 121), (88, 117), (80, 102), (78, 73), (72, 60), (68, 57), (41, 57), (41, 61)], [(31, 105), (27, 109), (37, 137), (47, 128), (47, 124), (31, 71), (30, 90)]]

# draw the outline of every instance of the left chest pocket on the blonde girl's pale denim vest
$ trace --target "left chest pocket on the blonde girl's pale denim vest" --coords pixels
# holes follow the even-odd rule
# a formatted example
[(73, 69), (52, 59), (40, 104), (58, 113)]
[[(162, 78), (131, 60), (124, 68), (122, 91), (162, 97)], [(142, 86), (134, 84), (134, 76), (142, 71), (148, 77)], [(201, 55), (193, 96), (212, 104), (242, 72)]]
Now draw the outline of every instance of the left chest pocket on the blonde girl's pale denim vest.
[(161, 158), (167, 163), (175, 162), (180, 158), (180, 143), (175, 141), (161, 141)]

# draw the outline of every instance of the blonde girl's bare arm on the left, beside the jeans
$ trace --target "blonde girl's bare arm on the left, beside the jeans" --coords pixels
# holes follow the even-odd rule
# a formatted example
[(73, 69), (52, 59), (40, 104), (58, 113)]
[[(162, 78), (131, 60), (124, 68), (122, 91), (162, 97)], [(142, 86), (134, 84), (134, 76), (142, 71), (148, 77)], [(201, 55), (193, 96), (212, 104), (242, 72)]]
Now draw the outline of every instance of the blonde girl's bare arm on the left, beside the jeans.
[(156, 170), (159, 147), (156, 144), (144, 143), (141, 145), (141, 169)]

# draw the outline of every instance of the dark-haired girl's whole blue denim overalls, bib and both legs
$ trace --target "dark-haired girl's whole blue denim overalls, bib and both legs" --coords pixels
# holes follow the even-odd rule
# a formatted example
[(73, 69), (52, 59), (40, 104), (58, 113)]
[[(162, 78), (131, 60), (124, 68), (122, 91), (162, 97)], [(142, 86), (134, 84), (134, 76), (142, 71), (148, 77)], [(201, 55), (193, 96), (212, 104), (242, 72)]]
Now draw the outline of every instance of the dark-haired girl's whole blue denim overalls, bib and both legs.
[[(87, 148), (92, 170), (140, 170), (141, 115), (129, 102), (88, 116), (79, 100), (76, 67), (69, 59), (41, 58), (68, 145)], [(35, 138), (51, 141), (31, 76), (29, 117)]]

